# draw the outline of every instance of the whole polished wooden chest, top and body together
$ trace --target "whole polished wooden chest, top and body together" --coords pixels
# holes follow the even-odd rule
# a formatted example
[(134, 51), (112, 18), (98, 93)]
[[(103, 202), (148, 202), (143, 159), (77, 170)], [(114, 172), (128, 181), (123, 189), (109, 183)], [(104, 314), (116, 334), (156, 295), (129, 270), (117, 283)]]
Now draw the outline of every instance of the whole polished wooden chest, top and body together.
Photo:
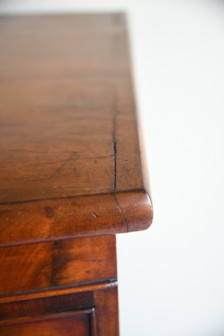
[(115, 234), (152, 221), (125, 16), (3, 16), (0, 39), (0, 335), (118, 335)]

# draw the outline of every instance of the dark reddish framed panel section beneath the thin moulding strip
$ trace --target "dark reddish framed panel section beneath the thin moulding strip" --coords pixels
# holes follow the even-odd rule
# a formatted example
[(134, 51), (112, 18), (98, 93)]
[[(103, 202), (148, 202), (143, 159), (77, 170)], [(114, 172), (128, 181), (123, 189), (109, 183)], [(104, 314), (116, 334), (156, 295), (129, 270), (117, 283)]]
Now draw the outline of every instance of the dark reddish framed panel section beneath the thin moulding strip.
[(118, 336), (117, 292), (113, 283), (87, 292), (1, 303), (0, 335), (30, 335), (34, 328), (34, 335), (70, 335), (73, 330), (76, 336), (86, 335), (84, 331), (91, 336)]

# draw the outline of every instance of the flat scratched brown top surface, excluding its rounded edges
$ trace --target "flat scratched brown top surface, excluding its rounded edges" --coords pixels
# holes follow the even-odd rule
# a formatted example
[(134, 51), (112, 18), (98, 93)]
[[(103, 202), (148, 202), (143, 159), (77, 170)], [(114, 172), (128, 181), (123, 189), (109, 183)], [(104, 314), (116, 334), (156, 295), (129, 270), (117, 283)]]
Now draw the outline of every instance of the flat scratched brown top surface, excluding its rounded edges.
[(141, 188), (124, 17), (1, 21), (1, 201), (114, 191), (114, 142), (116, 190)]

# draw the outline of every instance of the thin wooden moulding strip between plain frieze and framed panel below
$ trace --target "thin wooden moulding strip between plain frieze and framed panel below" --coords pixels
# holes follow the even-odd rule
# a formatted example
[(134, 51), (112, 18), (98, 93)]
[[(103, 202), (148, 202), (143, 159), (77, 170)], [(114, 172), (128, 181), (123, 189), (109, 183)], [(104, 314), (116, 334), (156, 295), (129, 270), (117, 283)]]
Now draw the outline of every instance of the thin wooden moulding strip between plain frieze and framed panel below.
[[(88, 285), (98, 285), (103, 282), (109, 282), (110, 284), (113, 284), (113, 282), (117, 282), (117, 278), (106, 278), (106, 279), (100, 279), (96, 281), (84, 281), (84, 282), (79, 282), (77, 284), (72, 284), (72, 285), (63, 285), (63, 286), (54, 286), (54, 287), (45, 287), (45, 288), (38, 288), (38, 289), (31, 289), (29, 291), (22, 291), (22, 292), (12, 292), (12, 293), (5, 293), (5, 294), (0, 294), (0, 298), (8, 295), (19, 295), (19, 294), (29, 294), (29, 293), (37, 293), (37, 292), (42, 292), (42, 291), (48, 291), (48, 290), (60, 290), (60, 289), (66, 289), (66, 288), (73, 288), (73, 287), (79, 287), (79, 286), (88, 286)], [(88, 290), (86, 290), (88, 292)], [(59, 295), (66, 295), (66, 294), (59, 294)], [(3, 303), (3, 302), (1, 302)], [(0, 303), (0, 304), (1, 304)]]

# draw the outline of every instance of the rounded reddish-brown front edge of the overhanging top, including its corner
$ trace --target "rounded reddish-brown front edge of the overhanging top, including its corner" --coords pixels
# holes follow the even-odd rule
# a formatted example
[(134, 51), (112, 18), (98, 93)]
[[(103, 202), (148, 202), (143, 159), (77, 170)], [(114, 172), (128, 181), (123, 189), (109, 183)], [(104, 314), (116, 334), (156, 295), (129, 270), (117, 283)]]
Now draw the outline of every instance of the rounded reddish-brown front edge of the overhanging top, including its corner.
[(125, 233), (152, 220), (143, 190), (0, 205), (0, 211), (0, 246)]

